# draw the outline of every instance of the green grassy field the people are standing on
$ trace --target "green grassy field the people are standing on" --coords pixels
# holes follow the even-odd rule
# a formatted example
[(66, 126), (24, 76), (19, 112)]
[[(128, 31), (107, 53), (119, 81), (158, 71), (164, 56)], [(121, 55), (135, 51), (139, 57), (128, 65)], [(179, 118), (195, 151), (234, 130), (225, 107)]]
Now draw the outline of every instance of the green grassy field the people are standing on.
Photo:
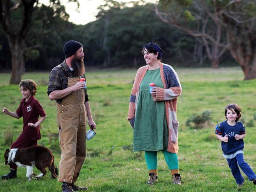
[[(221, 142), (215, 138), (217, 122), (225, 120), (224, 108), (228, 103), (242, 107), (242, 120), (246, 126), (244, 155), (256, 171), (256, 80), (243, 81), (240, 68), (176, 69), (182, 95), (178, 99), (177, 118), (179, 126), (179, 163), (182, 186), (172, 185), (171, 174), (163, 154), (158, 153), (158, 183), (148, 186), (148, 171), (143, 152), (132, 151), (132, 128), (126, 121), (130, 91), (136, 70), (90, 70), (87, 71), (87, 87), (93, 118), (97, 124), (96, 137), (87, 141), (85, 159), (77, 185), (87, 186), (89, 192), (169, 192), (169, 191), (236, 191), (226, 159), (222, 157)], [(49, 73), (26, 73), (22, 79), (32, 78), (38, 83), (35, 96), (44, 107), (47, 119), (41, 126), (40, 145), (49, 147), (60, 159), (56, 104), (48, 99)], [(16, 111), (21, 100), (17, 85), (8, 85), (10, 74), (0, 74), (0, 109), (7, 107)], [(187, 127), (186, 121), (193, 114), (211, 112), (211, 122), (203, 129)], [(247, 126), (248, 125), (248, 126)], [(0, 113), (0, 175), (9, 172), (4, 165), (4, 133), (13, 131), (13, 141), (22, 131), (22, 118), (17, 120)], [(34, 172), (39, 171), (35, 168)], [(50, 179), (48, 173), (40, 181), (28, 182), (26, 169), (18, 168), (18, 178), (0, 181), (2, 192), (60, 192), (61, 183)], [(244, 174), (243, 174), (244, 175)], [(245, 176), (245, 175), (244, 175)], [(240, 191), (253, 192), (256, 186), (245, 176), (245, 186)]]

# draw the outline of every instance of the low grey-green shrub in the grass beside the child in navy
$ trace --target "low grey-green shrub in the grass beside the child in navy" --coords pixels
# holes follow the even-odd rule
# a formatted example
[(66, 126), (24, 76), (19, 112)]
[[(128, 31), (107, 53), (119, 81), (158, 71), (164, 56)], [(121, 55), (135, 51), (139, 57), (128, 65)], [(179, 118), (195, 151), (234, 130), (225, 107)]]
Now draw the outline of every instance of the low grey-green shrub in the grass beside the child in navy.
[[(191, 125), (191, 123), (193, 123)], [(202, 114), (193, 114), (191, 118), (186, 121), (186, 126), (194, 129), (202, 129), (211, 124), (211, 112), (204, 111)]]

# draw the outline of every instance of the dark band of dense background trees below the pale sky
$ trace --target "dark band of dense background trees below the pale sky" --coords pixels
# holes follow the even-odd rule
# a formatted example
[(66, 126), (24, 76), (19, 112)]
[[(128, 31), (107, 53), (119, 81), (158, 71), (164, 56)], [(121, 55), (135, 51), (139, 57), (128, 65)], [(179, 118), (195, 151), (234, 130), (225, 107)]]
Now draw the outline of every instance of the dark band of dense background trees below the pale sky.
[[(154, 12), (154, 4), (105, 3), (99, 7), (97, 20), (86, 25), (68, 22), (69, 16), (61, 6), (42, 4), (37, 7), (25, 40), (26, 71), (50, 70), (62, 62), (63, 44), (70, 39), (82, 42), (87, 66), (143, 65), (141, 47), (153, 39), (164, 50), (163, 61), (172, 59), (183, 65), (200, 63), (196, 56), (198, 41), (161, 21)], [(18, 18), (17, 15), (13, 17)], [(1, 29), (0, 34), (0, 66), (10, 70), (11, 52), (7, 37)], [(230, 58), (229, 55), (226, 57)]]

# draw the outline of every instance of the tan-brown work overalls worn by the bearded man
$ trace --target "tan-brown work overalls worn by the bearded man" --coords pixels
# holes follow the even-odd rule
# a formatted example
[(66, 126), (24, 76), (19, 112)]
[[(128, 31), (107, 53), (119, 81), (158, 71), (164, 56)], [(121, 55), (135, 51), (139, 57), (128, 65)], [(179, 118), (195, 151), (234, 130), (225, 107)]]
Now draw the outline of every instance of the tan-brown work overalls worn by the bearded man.
[[(79, 82), (79, 78), (68, 78), (68, 87)], [(57, 103), (57, 124), (59, 126), (59, 182), (74, 183), (85, 159), (86, 111), (85, 92), (73, 91)]]

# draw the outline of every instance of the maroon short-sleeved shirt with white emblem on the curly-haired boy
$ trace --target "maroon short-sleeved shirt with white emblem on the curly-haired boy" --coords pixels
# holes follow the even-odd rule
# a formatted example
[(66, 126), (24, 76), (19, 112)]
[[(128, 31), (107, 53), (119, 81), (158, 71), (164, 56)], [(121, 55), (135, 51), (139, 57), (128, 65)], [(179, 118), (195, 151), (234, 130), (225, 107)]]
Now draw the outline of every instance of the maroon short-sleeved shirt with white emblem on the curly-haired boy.
[(23, 116), (23, 131), (20, 136), (24, 137), (24, 139), (29, 138), (30, 140), (41, 139), (39, 126), (28, 126), (28, 123), (35, 124), (38, 121), (39, 115), (41, 117), (46, 115), (39, 101), (37, 101), (33, 96), (31, 96), (27, 102), (25, 102), (25, 99), (23, 98), (20, 101), (20, 106), (16, 113), (19, 117)]

